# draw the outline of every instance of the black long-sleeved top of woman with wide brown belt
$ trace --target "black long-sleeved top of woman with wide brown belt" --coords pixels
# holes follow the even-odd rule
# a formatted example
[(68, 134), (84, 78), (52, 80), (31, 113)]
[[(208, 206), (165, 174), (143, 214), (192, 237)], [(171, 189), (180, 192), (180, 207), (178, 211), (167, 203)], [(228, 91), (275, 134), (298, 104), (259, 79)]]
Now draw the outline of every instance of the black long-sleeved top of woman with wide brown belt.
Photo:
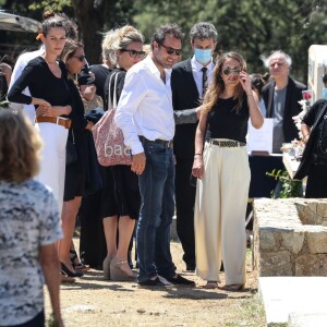
[[(61, 70), (60, 78), (53, 75), (43, 57), (31, 60), (11, 87), (8, 99), (12, 102), (31, 105), (32, 97), (36, 97), (45, 99), (51, 106), (71, 105), (65, 65), (59, 61), (59, 66)], [(28, 87), (32, 97), (22, 93), (26, 87)], [(37, 108), (37, 106), (35, 107)]]

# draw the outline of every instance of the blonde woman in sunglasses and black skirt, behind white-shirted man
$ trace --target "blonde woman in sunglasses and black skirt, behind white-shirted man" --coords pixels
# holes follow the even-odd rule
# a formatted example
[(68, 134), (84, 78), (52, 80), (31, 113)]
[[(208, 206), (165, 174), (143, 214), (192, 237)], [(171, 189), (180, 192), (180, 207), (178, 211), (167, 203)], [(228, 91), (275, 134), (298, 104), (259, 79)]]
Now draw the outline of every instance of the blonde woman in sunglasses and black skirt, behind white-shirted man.
[[(116, 40), (112, 47), (116, 50), (118, 68), (109, 73), (105, 84), (106, 108), (109, 101), (109, 88), (111, 101), (113, 92), (119, 100), (126, 71), (145, 57), (143, 41), (143, 35), (132, 26), (124, 26), (116, 31)], [(111, 76), (112, 78), (110, 78)], [(117, 87), (114, 89), (116, 77)], [(111, 186), (107, 194), (110, 196), (110, 198), (107, 197), (108, 206), (102, 215), (107, 242), (104, 277), (111, 280), (131, 280), (135, 279), (135, 275), (128, 263), (128, 250), (140, 211), (138, 179), (131, 171), (130, 166), (113, 166), (106, 170), (108, 170), (106, 184)]]

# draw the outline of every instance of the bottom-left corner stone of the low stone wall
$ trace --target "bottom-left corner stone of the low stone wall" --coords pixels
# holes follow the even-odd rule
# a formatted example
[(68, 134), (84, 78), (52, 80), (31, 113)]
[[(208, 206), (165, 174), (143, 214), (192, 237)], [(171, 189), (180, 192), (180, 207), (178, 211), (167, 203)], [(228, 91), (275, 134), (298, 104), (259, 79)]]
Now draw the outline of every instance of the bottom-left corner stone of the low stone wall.
[(264, 252), (259, 257), (259, 276), (292, 276), (289, 251)]

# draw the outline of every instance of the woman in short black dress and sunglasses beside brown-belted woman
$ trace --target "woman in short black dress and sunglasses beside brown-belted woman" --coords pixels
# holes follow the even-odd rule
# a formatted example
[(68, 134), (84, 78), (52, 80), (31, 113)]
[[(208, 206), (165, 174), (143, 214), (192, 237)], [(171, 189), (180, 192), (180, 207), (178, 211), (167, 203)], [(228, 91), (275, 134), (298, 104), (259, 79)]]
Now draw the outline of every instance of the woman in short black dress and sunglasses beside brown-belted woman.
[[(61, 53), (61, 60), (65, 63), (69, 87), (72, 94), (71, 113), (72, 124), (69, 130), (69, 142), (73, 142), (77, 153), (77, 160), (66, 166), (63, 208), (61, 214), (63, 239), (59, 242), (59, 259), (62, 270), (70, 277), (83, 276), (82, 271), (74, 268), (71, 262), (70, 250), (76, 222), (76, 216), (84, 194), (87, 162), (86, 133), (90, 133), (93, 122), (84, 118), (84, 106), (80, 89), (87, 93), (89, 97), (95, 95), (95, 86), (85, 84), (78, 86), (77, 74), (85, 65), (84, 46), (76, 40), (68, 39)], [(86, 81), (86, 80), (85, 80)]]

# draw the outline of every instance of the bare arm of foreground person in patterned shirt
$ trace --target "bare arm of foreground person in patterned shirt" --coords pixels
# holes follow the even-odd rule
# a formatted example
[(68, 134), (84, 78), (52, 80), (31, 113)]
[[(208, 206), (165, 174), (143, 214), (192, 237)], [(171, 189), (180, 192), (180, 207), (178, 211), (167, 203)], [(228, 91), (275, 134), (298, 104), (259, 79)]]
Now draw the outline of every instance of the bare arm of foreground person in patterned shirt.
[(50, 295), (55, 320), (59, 327), (63, 326), (60, 312), (60, 265), (55, 244), (41, 245), (39, 250), (39, 262), (45, 275), (47, 288)]

